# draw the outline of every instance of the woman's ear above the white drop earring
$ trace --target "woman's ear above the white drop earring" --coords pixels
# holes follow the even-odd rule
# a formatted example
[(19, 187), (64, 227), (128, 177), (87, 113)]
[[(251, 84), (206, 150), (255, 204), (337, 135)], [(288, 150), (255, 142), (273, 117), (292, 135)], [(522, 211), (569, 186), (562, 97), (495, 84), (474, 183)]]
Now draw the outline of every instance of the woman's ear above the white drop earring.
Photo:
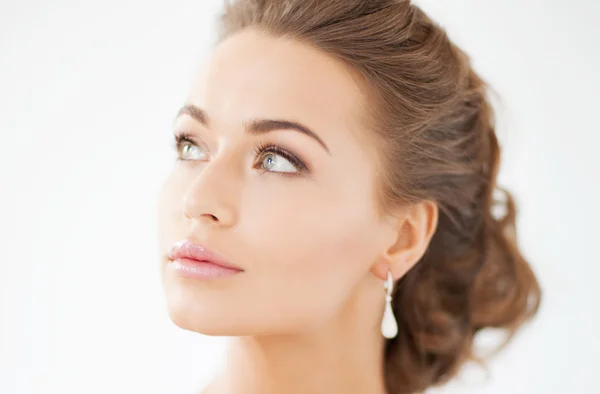
[(420, 259), (437, 228), (439, 209), (433, 201), (421, 201), (404, 207), (390, 225), (389, 241), (371, 272), (386, 280), (388, 270), (400, 279)]

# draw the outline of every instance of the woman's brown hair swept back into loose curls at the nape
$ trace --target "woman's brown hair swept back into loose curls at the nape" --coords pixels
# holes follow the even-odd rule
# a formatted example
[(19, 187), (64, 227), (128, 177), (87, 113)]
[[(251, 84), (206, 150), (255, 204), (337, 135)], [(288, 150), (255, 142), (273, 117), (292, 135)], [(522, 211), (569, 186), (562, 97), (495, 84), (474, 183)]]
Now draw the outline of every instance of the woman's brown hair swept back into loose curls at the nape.
[(537, 312), (541, 292), (517, 246), (514, 201), (495, 195), (494, 114), (469, 57), (409, 0), (234, 0), (220, 22), (218, 41), (257, 28), (353, 70), (376, 136), (382, 209), (439, 207), (426, 253), (394, 291), (400, 330), (385, 347), (388, 391), (447, 381), (478, 360), (473, 339), (484, 328), (510, 339)]

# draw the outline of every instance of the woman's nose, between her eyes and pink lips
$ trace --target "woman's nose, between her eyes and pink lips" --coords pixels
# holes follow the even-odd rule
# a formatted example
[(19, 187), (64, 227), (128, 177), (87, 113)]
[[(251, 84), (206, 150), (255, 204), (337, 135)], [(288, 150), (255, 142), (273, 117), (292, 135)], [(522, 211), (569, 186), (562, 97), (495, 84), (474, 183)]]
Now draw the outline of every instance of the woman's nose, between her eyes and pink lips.
[(231, 227), (238, 218), (236, 198), (241, 181), (226, 163), (208, 162), (190, 180), (183, 197), (184, 216), (207, 225)]

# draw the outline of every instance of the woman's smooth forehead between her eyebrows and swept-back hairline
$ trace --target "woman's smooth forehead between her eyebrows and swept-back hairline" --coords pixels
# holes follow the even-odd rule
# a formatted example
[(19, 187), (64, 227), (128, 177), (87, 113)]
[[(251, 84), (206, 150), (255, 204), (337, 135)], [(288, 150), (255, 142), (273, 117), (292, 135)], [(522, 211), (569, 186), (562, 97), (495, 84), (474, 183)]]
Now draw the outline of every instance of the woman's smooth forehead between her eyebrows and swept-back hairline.
[(353, 134), (364, 106), (356, 76), (342, 62), (252, 29), (215, 47), (190, 101), (232, 126), (251, 118), (286, 118), (321, 133), (337, 127)]

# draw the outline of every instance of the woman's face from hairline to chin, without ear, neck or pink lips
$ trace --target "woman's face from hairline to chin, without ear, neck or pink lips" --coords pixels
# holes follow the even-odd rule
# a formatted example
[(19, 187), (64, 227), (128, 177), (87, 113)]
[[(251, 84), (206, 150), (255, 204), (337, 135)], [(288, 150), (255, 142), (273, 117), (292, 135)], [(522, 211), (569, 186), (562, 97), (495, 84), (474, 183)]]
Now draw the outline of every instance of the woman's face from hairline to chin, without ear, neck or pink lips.
[[(160, 199), (171, 318), (208, 335), (327, 324), (371, 275), (386, 231), (352, 75), (311, 47), (246, 30), (216, 47), (185, 104)], [(182, 275), (168, 253), (184, 239), (243, 272)]]

